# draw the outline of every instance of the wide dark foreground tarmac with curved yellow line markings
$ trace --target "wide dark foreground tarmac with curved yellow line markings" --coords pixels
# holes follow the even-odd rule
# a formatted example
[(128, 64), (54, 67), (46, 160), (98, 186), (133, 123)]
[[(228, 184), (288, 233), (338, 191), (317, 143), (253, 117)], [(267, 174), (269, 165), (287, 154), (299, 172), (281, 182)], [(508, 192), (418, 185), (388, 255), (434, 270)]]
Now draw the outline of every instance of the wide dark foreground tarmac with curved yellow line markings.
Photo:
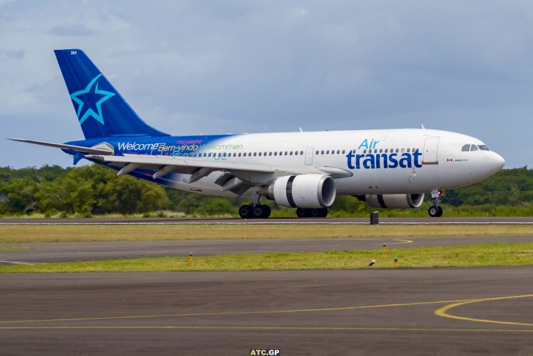
[(533, 267), (3, 274), (2, 355), (532, 355)]

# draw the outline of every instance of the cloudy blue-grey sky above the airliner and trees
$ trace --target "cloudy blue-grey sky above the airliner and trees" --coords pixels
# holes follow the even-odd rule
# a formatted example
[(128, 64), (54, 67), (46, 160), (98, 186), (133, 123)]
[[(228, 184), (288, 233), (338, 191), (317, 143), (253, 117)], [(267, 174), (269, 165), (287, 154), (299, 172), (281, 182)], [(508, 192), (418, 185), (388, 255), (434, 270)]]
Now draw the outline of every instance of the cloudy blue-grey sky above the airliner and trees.
[(83, 139), (54, 49), (176, 135), (421, 127), (533, 166), (533, 1), (0, 0), (0, 166)]

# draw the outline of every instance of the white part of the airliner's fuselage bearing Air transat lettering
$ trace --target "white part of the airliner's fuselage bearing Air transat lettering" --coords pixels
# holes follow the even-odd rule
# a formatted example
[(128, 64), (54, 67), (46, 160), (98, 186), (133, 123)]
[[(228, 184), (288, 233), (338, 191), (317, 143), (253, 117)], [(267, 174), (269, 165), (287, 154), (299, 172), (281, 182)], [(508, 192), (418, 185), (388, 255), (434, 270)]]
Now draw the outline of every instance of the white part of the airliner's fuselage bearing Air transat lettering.
[[(334, 167), (351, 172), (351, 177), (335, 179), (337, 195), (459, 188), (490, 177), (505, 165), (496, 152), (480, 149), (486, 146), (479, 139), (427, 129), (239, 134), (217, 143), (215, 148), (198, 150), (196, 156), (211, 154), (208, 159)], [(475, 145), (476, 150), (463, 151), (464, 145)], [(221, 192), (220, 186), (214, 184), (222, 174), (212, 172), (192, 184), (186, 182), (189, 175), (174, 174), (167, 179), (174, 188), (235, 196), (229, 191)]]

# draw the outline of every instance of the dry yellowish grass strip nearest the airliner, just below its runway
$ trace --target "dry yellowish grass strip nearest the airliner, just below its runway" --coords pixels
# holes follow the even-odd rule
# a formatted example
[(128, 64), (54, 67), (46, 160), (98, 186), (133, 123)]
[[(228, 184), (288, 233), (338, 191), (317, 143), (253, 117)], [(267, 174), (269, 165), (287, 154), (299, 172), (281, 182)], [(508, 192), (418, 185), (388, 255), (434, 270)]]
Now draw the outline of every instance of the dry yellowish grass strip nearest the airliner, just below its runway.
[(4, 225), (0, 243), (533, 235), (533, 225)]

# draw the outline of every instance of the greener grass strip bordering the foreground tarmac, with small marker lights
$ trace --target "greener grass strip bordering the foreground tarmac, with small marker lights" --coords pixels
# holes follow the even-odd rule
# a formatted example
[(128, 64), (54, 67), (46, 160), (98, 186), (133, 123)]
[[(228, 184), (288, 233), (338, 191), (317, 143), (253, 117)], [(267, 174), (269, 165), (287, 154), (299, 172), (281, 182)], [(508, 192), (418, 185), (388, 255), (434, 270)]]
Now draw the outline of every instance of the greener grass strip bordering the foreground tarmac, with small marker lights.
[[(533, 242), (300, 253), (246, 253), (0, 266), (0, 273), (278, 271), (395, 267), (531, 266)], [(375, 259), (374, 267), (368, 267)]]

